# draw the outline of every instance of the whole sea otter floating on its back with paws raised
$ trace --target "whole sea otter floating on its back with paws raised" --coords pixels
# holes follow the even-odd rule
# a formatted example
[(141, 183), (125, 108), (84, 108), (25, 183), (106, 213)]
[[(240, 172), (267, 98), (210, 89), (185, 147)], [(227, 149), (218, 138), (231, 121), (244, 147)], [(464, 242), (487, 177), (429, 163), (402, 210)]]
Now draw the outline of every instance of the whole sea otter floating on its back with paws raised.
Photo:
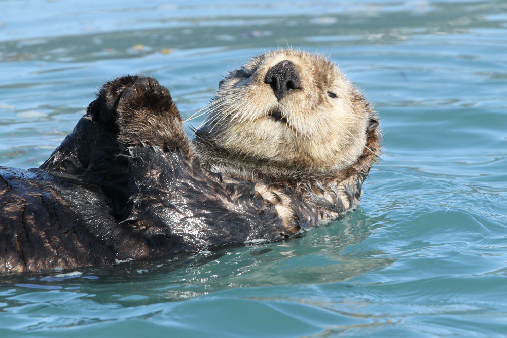
[(41, 167), (0, 167), (0, 271), (282, 240), (353, 209), (380, 151), (373, 109), (306, 52), (254, 58), (208, 110), (190, 141), (155, 79), (106, 83)]

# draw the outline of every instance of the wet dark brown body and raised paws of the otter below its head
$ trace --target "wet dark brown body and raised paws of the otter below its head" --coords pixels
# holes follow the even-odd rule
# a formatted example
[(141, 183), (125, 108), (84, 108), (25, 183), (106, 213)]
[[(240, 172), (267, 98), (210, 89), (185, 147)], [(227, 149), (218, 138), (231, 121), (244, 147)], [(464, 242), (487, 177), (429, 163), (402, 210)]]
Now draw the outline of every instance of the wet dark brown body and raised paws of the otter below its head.
[(303, 190), (249, 182), (203, 168), (165, 87), (151, 78), (118, 78), (102, 87), (40, 168), (0, 167), (0, 271), (282, 240), (357, 205), (378, 151), (376, 124), (369, 122), (371, 151), (342, 172), (344, 179), (305, 183)]

